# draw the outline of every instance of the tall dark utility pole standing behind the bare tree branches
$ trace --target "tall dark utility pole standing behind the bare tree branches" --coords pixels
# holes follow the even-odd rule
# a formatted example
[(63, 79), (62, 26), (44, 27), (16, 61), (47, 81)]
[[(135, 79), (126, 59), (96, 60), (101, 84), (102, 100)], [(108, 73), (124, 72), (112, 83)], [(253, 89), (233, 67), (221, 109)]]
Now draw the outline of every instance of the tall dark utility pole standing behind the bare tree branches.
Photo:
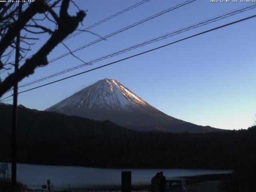
[[(22, 3), (19, 3), (18, 19), (20, 19), (20, 13), (22, 11)], [(20, 57), (20, 31), (17, 32), (16, 37), (16, 52), (15, 52), (15, 64), (14, 72), (16, 73), (19, 68)], [(13, 105), (12, 105), (12, 192), (16, 192), (17, 185), (17, 102), (18, 102), (18, 83), (13, 87)]]

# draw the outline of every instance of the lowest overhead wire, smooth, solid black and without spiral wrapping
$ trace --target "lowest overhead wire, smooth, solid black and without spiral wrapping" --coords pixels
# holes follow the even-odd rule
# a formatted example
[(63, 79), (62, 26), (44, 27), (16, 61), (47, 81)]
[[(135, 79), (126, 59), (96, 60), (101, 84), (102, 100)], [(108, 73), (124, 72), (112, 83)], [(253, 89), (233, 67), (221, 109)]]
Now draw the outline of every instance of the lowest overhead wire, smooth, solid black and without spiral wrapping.
[[(59, 79), (59, 80), (50, 82), (50, 83), (46, 83), (46, 84), (43, 84), (43, 85), (40, 85), (40, 86), (31, 88), (31, 89), (28, 89), (28, 90), (24, 90), (24, 91), (22, 91), (22, 92), (19, 92), (18, 94), (24, 93), (24, 92), (28, 92), (28, 91), (30, 91), (30, 90), (34, 90), (34, 89), (37, 89), (37, 88), (40, 88), (40, 87), (43, 87), (43, 86), (46, 86), (46, 85), (50, 85), (50, 84), (53, 84), (53, 83), (56, 83), (56, 82), (59, 82), (59, 81), (62, 81), (62, 80), (68, 79), (68, 78), (72, 78), (72, 77), (74, 77), (74, 76), (78, 76), (78, 75), (81, 75), (81, 74), (84, 74), (84, 73), (87, 73), (87, 72), (90, 72), (90, 71), (93, 71), (93, 70), (96, 70), (96, 69), (99, 69), (99, 68), (103, 68), (103, 67), (106, 67), (106, 66), (109, 66), (109, 65), (112, 65), (112, 64), (115, 64), (115, 63), (118, 63), (118, 62), (121, 62), (121, 61), (130, 59), (130, 58), (133, 58), (133, 57), (136, 57), (136, 56), (139, 56), (139, 55), (148, 53), (148, 52), (152, 52), (152, 51), (154, 51), (154, 50), (158, 50), (158, 49), (160, 49), (160, 48), (163, 48), (163, 47), (166, 47), (166, 46), (169, 46), (169, 45), (172, 45), (172, 44), (181, 42), (181, 41), (183, 41), (183, 40), (186, 40), (186, 39), (189, 39), (189, 38), (192, 38), (192, 37), (195, 37), (195, 36), (199, 36), (199, 35), (202, 35), (202, 34), (205, 34), (205, 33), (208, 33), (208, 32), (211, 32), (211, 31), (214, 31), (214, 30), (217, 30), (217, 29), (220, 29), (220, 28), (224, 28), (224, 27), (226, 27), (226, 26), (229, 26), (229, 25), (232, 25), (232, 24), (236, 24), (236, 23), (238, 23), (238, 22), (242, 22), (242, 21), (245, 21), (245, 20), (254, 18), (254, 17), (256, 17), (256, 15), (249, 16), (249, 17), (246, 17), (246, 18), (243, 18), (243, 19), (240, 19), (240, 20), (236, 20), (236, 21), (234, 21), (234, 22), (231, 22), (231, 23), (228, 23), (228, 24), (225, 24), (225, 25), (222, 25), (222, 26), (218, 26), (218, 27), (212, 28), (212, 29), (210, 29), (210, 30), (206, 30), (206, 31), (204, 31), (204, 32), (197, 33), (197, 34), (195, 34), (195, 35), (188, 36), (188, 37), (186, 37), (186, 38), (183, 38), (183, 39), (180, 39), (180, 40), (177, 40), (177, 41), (174, 41), (174, 42), (171, 42), (171, 43), (168, 43), (168, 44), (165, 44), (165, 45), (162, 45), (162, 46), (159, 46), (159, 47), (156, 47), (156, 48), (153, 48), (153, 49), (150, 49), (150, 50), (147, 50), (147, 51), (144, 51), (144, 52), (135, 54), (135, 55), (132, 55), (132, 56), (129, 56), (129, 57), (126, 57), (126, 58), (123, 58), (123, 59), (120, 59), (120, 60), (117, 60), (117, 61), (114, 61), (114, 62), (105, 64), (105, 65), (102, 65), (102, 66), (99, 66), (99, 67), (96, 67), (96, 68), (93, 68), (93, 69), (90, 69), (90, 70), (87, 70), (87, 71), (84, 71), (84, 72), (80, 72), (80, 73), (78, 73), (78, 74), (74, 74), (74, 75), (72, 75), (72, 76), (68, 76), (68, 77), (65, 77), (65, 78), (62, 78), (62, 79)], [(12, 95), (11, 95), (11, 96), (12, 96)], [(4, 98), (4, 99), (2, 99), (2, 100), (5, 100), (5, 99), (7, 99), (7, 98), (9, 98), (9, 97), (11, 97), (11, 96), (8, 96), (8, 97), (6, 97), (6, 98)], [(2, 101), (2, 100), (0, 100), (0, 101)]]

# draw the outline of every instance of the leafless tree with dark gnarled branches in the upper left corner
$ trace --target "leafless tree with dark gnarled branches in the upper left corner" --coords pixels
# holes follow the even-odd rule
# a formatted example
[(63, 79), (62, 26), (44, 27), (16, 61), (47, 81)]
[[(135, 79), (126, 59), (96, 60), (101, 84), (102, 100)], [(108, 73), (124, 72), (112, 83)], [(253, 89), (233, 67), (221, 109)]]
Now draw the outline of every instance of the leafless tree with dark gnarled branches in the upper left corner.
[[(0, 3), (0, 70), (9, 70), (12, 67), (12, 54), (16, 49), (16, 37), (19, 32), (21, 46), (19, 59), (26, 57), (31, 46), (39, 40), (40, 34), (49, 34), (48, 40), (36, 53), (24, 61), (16, 72), (8, 74), (4, 80), (0, 79), (0, 97), (10, 90), (15, 83), (34, 73), (39, 66), (48, 64), (48, 54), (83, 21), (86, 13), (79, 10), (76, 16), (68, 14), (72, 0), (36, 0), (29, 4)], [(74, 4), (76, 6), (76, 4)], [(18, 16), (19, 6), (22, 11)], [(57, 13), (58, 10), (58, 13)], [(54, 30), (50, 24), (54, 24)]]

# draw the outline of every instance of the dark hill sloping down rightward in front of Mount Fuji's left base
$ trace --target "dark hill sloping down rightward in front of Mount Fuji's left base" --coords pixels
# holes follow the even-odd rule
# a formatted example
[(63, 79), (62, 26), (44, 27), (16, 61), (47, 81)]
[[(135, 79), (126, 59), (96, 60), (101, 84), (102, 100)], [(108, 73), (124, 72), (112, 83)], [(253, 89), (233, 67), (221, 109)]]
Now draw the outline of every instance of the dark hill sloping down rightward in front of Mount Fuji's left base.
[[(0, 140), (11, 138), (12, 105), (0, 103)], [(56, 112), (39, 111), (18, 106), (18, 140), (47, 140), (70, 136), (122, 135), (133, 130), (109, 120), (95, 121)]]

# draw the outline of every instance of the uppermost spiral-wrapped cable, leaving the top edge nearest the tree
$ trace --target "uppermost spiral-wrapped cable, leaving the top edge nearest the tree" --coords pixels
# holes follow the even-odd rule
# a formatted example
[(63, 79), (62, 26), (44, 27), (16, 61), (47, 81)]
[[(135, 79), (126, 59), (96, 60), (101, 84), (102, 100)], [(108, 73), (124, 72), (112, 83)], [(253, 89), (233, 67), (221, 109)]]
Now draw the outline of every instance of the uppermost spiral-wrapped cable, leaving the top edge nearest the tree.
[[(63, 41), (66, 41), (66, 40), (68, 40), (68, 39), (70, 39), (70, 38), (73, 38), (73, 37), (75, 37), (75, 36), (81, 34), (82, 32), (85, 32), (85, 31), (87, 31), (87, 30), (89, 30), (89, 29), (91, 29), (91, 28), (94, 28), (95, 26), (98, 26), (98, 25), (100, 25), (100, 24), (102, 24), (102, 23), (104, 23), (104, 22), (106, 22), (106, 21), (108, 21), (108, 20), (110, 20), (110, 19), (112, 19), (112, 18), (114, 18), (114, 17), (120, 15), (120, 14), (123, 14), (123, 13), (125, 13), (125, 12), (127, 12), (127, 11), (129, 11), (129, 10), (132, 10), (132, 9), (134, 9), (134, 8), (136, 8), (136, 7), (138, 7), (138, 6), (142, 5), (142, 4), (144, 4), (144, 3), (146, 3), (146, 2), (149, 2), (149, 1), (150, 1), (150, 0), (142, 0), (141, 2), (138, 2), (138, 3), (132, 5), (132, 6), (128, 7), (128, 8), (125, 8), (124, 10), (122, 10), (122, 11), (120, 11), (120, 12), (117, 12), (116, 14), (113, 14), (113, 15), (107, 17), (107, 18), (104, 18), (103, 20), (100, 20), (99, 22), (96, 22), (96, 23), (92, 24), (91, 26), (88, 26), (88, 27), (84, 28), (82, 31), (76, 32), (75, 34), (72, 34), (72, 35), (66, 37)], [(28, 5), (27, 5), (27, 6), (28, 6)], [(26, 7), (26, 6), (25, 6), (25, 7)], [(63, 41), (62, 41), (62, 42), (63, 42)], [(28, 57), (26, 57), (26, 58), (20, 60), (20, 62), (23, 62), (23, 61), (27, 60), (28, 58), (31, 58), (32, 56), (33, 56), (33, 55), (28, 56)], [(14, 63), (14, 62), (10, 62), (10, 64), (12, 64), (12, 63)], [(1, 73), (2, 73), (2, 72), (1, 72)], [(1, 73), (0, 73), (0, 74), (1, 74)]]

